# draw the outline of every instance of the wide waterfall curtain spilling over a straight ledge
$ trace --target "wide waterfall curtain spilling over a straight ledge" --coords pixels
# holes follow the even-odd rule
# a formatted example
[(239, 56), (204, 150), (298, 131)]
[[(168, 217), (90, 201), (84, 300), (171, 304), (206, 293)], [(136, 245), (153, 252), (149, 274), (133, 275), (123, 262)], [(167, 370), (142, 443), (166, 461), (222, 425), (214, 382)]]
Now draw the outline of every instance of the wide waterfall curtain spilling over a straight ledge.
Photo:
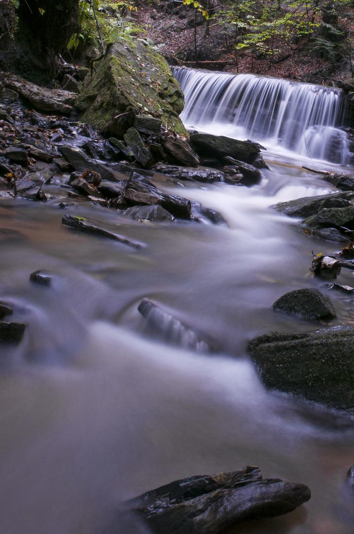
[(239, 139), (251, 138), (304, 157), (349, 163), (341, 130), (345, 103), (338, 89), (254, 74), (175, 67), (186, 105), (187, 127)]

